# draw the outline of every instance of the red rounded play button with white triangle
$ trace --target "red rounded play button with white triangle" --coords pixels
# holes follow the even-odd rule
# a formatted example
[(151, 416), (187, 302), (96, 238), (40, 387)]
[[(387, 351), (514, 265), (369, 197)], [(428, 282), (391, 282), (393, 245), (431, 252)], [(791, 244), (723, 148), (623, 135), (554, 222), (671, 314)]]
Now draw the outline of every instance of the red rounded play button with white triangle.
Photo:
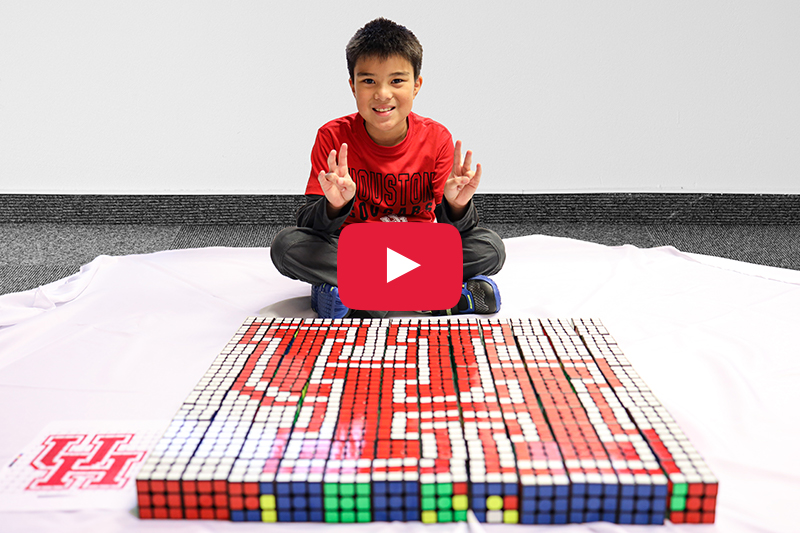
[(351, 309), (434, 311), (461, 296), (461, 235), (449, 224), (350, 224), (337, 262), (339, 296)]

